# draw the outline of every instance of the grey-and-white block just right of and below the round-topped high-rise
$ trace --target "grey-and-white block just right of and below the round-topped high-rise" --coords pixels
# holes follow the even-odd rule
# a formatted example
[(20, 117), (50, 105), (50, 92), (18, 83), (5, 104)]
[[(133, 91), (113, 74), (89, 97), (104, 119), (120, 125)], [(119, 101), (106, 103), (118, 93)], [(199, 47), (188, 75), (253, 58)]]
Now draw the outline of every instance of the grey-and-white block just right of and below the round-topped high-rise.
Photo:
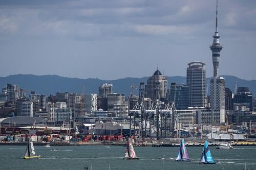
[(108, 113), (113, 115), (114, 105), (125, 104), (124, 94), (112, 93), (108, 94)]

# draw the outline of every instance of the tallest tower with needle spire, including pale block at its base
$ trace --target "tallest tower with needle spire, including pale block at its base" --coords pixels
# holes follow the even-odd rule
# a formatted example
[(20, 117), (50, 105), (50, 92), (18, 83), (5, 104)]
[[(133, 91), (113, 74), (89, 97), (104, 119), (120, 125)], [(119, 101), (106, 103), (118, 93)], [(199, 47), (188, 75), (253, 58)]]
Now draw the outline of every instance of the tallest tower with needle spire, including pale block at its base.
[(210, 109), (220, 110), (220, 122), (225, 123), (225, 79), (219, 77), (220, 52), (222, 50), (219, 38), (217, 1), (214, 42), (212, 42), (210, 46), (210, 50), (212, 51), (212, 64), (214, 65), (214, 77), (210, 80)]

